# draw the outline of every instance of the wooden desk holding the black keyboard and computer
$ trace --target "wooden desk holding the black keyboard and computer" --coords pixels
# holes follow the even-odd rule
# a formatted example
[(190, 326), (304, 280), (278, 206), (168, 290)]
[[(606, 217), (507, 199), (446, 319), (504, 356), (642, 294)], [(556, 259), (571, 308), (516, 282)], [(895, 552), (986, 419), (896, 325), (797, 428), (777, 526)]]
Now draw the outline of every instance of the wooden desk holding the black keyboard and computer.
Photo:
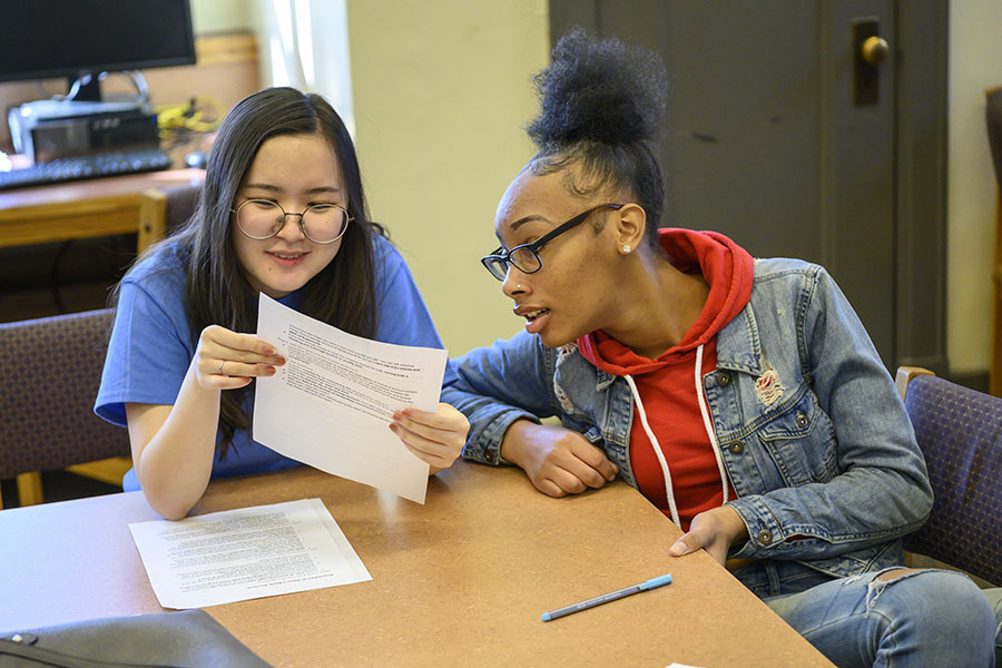
[(143, 193), (200, 184), (202, 169), (168, 169), (0, 190), (0, 247), (136, 232), (139, 249), (163, 235), (140, 215)]

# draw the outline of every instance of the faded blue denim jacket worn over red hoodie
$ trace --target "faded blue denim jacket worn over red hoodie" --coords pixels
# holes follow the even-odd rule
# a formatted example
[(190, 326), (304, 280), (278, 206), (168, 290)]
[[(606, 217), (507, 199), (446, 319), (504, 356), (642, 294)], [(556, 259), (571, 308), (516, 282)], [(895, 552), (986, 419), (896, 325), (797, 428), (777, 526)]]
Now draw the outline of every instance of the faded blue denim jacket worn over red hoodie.
[[(548, 348), (522, 331), (454, 364), (459, 381), (443, 400), (470, 420), (465, 458), (501, 464), (512, 422), (556, 415), (637, 487), (627, 382), (573, 344)], [(800, 591), (901, 563), (901, 537), (932, 508), (925, 461), (886, 369), (827, 272), (755, 261), (752, 298), (717, 334), (717, 369), (703, 387), (737, 493), (728, 505), (749, 536), (728, 557), (757, 560), (735, 573), (753, 591)]]

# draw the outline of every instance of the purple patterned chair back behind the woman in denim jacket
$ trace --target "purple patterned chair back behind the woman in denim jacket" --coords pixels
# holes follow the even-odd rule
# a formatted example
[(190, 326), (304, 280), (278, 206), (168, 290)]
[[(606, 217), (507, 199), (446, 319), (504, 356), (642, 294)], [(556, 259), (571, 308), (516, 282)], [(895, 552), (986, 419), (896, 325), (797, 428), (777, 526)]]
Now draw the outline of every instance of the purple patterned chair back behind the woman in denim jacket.
[(920, 375), (905, 407), (935, 493), (905, 549), (1002, 584), (1002, 399)]

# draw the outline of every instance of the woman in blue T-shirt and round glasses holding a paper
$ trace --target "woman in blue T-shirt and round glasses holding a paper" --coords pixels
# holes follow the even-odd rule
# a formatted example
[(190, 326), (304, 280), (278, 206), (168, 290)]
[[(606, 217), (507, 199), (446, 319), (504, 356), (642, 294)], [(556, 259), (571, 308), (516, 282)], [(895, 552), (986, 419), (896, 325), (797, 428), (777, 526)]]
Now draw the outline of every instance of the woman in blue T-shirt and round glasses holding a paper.
[[(342, 331), (442, 347), (400, 254), (369, 220), (355, 149), (320, 96), (271, 88), (223, 121), (188, 224), (122, 278), (95, 410), (128, 425), (134, 468), (165, 518), (209, 479), (297, 465), (250, 438), (252, 381), (285, 360), (257, 328), (258, 292)], [(446, 367), (446, 382), (451, 371)], [(435, 472), (468, 422), (449, 404), (390, 425)]]

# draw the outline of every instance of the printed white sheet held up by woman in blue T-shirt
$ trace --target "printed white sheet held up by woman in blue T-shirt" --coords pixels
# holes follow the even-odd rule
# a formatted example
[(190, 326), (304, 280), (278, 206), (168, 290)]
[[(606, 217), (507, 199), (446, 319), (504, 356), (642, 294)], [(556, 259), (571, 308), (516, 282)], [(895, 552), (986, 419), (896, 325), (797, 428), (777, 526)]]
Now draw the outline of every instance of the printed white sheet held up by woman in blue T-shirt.
[(287, 362), (257, 380), (254, 440), (327, 473), (424, 503), (428, 463), (390, 431), (435, 411), (448, 353), (354, 336), (261, 294), (257, 336)]

